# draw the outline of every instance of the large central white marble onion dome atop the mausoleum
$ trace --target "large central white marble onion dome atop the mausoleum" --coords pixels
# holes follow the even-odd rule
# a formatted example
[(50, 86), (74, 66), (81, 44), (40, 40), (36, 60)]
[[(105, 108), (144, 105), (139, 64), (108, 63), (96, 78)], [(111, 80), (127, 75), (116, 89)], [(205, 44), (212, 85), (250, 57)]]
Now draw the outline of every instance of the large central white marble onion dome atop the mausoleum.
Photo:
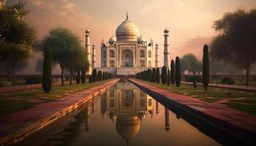
[(138, 27), (132, 21), (128, 20), (128, 17), (127, 20), (124, 20), (116, 28), (116, 38), (118, 41), (137, 41), (139, 35), (140, 31)]

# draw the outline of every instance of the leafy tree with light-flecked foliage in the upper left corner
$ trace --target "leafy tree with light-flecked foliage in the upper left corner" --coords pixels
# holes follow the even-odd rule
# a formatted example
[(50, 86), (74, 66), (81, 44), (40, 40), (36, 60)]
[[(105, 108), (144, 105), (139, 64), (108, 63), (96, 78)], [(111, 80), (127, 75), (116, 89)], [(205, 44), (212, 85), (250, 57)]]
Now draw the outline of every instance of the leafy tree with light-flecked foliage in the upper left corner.
[(25, 3), (0, 6), (0, 68), (14, 81), (15, 71), (34, 54), (37, 44), (34, 28), (26, 22)]

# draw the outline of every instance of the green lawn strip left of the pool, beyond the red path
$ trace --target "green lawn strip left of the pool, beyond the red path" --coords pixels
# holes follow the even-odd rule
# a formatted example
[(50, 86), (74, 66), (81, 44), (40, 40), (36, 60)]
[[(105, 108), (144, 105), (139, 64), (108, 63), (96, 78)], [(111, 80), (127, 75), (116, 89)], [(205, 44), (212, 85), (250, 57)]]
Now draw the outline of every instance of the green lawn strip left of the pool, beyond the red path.
[(0, 116), (29, 109), (37, 104), (54, 101), (61, 96), (77, 93), (109, 81), (110, 80), (104, 80), (79, 85), (56, 86), (52, 88), (50, 93), (44, 93), (42, 88), (0, 93)]

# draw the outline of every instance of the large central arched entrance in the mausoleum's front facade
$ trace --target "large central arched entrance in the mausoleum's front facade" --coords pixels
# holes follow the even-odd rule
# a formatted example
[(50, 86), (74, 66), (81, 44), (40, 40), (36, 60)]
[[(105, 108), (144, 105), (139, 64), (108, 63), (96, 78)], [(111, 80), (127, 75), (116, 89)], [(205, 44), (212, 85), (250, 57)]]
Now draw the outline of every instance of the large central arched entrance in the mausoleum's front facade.
[(121, 53), (121, 67), (133, 66), (133, 54), (132, 50), (126, 49)]

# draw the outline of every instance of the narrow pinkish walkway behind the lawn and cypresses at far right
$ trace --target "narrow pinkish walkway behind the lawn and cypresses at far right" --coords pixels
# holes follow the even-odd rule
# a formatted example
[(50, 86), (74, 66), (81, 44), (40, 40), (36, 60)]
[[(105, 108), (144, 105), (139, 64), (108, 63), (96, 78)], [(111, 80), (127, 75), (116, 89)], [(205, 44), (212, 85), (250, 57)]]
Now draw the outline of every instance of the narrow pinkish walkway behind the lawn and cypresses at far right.
[[(193, 82), (181, 82), (182, 84), (193, 85)], [(197, 82), (197, 85), (203, 85), (202, 82)], [(225, 84), (214, 84), (210, 83), (209, 86), (217, 87), (217, 88), (230, 88), (230, 89), (237, 89), (243, 91), (256, 91), (255, 87), (246, 86), (246, 85), (225, 85)]]

